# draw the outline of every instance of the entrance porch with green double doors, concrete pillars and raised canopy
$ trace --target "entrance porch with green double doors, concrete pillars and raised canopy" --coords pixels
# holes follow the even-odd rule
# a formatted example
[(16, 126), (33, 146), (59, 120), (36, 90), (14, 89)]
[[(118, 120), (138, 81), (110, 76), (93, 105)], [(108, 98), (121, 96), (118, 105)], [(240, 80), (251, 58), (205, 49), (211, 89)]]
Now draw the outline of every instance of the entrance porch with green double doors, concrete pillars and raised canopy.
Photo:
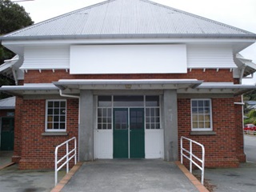
[[(95, 158), (163, 158), (166, 161), (176, 161), (178, 160), (177, 90), (198, 86), (201, 83), (196, 79), (102, 79), (59, 80), (54, 82), (54, 85), (61, 90), (61, 96), (79, 98), (79, 161), (92, 161)], [(98, 112), (99, 96), (112, 97), (111, 101), (105, 103), (110, 106), (100, 106), (106, 108), (107, 111), (102, 116)], [(113, 97), (118, 96), (123, 98), (142, 96), (143, 105), (134, 106), (134, 103), (138, 104), (137, 99), (130, 101), (121, 99), (121, 102), (119, 102), (121, 104), (115, 106)], [(157, 106), (159, 119), (156, 121), (157, 117), (154, 116), (156, 122), (151, 125), (148, 123), (152, 120), (150, 118), (151, 114), (150, 116), (146, 114), (146, 108), (151, 107), (146, 106), (146, 97), (150, 96), (159, 98)], [(123, 112), (118, 110), (120, 108), (123, 109)], [(138, 122), (133, 124), (133, 120), (129, 117), (131, 115), (130, 111), (138, 109), (142, 109), (141, 112), (144, 114), (142, 114), (140, 122), (137, 116), (134, 117), (135, 121)], [(102, 110), (102, 113), (104, 113), (104, 110)], [(122, 114), (124, 118), (122, 119), (122, 115), (121, 118), (117, 118), (118, 113), (125, 113), (125, 115)], [(100, 118), (102, 122), (100, 122)], [(115, 120), (117, 122), (114, 122)], [(135, 125), (135, 128), (132, 128), (133, 125)], [(122, 126), (124, 128), (119, 129)], [(137, 126), (140, 126), (140, 128)], [(149, 129), (153, 126), (154, 129)], [(135, 134), (138, 130), (141, 130), (141, 133)], [(134, 137), (133, 132), (134, 135), (141, 136)], [(121, 133), (125, 136), (121, 136)], [(118, 142), (118, 135), (122, 142)], [(126, 140), (123, 140), (123, 138)], [(118, 144), (115, 145), (115, 143)], [(119, 151), (125, 150), (125, 154), (117, 154), (121, 143), (124, 146)], [(135, 152), (134, 155), (133, 149), (140, 150)], [(152, 150), (154, 150), (153, 153)]]

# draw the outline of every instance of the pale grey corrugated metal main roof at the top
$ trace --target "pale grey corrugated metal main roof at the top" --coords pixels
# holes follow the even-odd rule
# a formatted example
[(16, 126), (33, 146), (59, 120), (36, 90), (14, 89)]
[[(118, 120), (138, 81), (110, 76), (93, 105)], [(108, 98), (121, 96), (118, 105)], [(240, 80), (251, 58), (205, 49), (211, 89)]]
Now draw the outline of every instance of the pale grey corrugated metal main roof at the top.
[(110, 0), (6, 34), (8, 38), (253, 37), (256, 34), (148, 0)]

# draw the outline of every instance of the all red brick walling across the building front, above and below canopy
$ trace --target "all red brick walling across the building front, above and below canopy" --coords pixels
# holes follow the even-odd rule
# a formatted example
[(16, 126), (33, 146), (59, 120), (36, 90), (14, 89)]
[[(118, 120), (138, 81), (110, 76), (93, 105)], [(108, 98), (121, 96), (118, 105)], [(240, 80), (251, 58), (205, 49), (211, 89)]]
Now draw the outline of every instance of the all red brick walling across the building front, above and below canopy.
[[(28, 70), (24, 83), (54, 82), (59, 79), (184, 79), (204, 82), (237, 82), (230, 70), (192, 70), (187, 74), (98, 74), (70, 75), (66, 70)], [(23, 82), (20, 82), (21, 84)], [(206, 167), (238, 166), (245, 161), (241, 133), (240, 98), (213, 98), (213, 122), (216, 135), (190, 135), (190, 99), (178, 98), (178, 138), (186, 136), (206, 146)], [(74, 136), (78, 137), (78, 99), (67, 100), (68, 136), (42, 136), (45, 132), (45, 100), (18, 98), (15, 113), (14, 157), (21, 169), (52, 169), (54, 149)], [(17, 128), (16, 128), (17, 127)]]

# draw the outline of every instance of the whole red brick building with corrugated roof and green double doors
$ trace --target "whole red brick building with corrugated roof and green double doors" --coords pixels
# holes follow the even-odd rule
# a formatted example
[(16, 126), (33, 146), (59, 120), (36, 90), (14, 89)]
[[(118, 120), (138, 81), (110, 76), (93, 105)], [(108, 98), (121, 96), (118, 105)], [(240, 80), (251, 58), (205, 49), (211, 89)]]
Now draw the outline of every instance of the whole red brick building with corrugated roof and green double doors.
[(238, 166), (238, 54), (256, 34), (147, 0), (111, 0), (2, 36), (18, 54), (14, 157), (54, 167), (54, 147), (78, 138), (78, 158), (178, 160), (179, 138), (206, 147), (206, 166)]

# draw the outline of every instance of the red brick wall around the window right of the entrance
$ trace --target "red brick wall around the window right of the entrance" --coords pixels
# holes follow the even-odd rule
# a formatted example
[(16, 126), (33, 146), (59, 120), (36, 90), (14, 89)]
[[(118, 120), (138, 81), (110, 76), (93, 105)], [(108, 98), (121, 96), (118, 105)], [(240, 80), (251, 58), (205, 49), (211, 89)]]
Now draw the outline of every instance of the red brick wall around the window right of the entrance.
[(190, 99), (178, 99), (178, 138), (185, 136), (205, 146), (206, 167), (236, 167), (244, 157), (242, 142), (237, 144), (242, 136), (238, 135), (236, 126), (241, 116), (237, 119), (235, 110), (234, 98), (212, 98), (213, 130), (216, 135), (190, 135)]

